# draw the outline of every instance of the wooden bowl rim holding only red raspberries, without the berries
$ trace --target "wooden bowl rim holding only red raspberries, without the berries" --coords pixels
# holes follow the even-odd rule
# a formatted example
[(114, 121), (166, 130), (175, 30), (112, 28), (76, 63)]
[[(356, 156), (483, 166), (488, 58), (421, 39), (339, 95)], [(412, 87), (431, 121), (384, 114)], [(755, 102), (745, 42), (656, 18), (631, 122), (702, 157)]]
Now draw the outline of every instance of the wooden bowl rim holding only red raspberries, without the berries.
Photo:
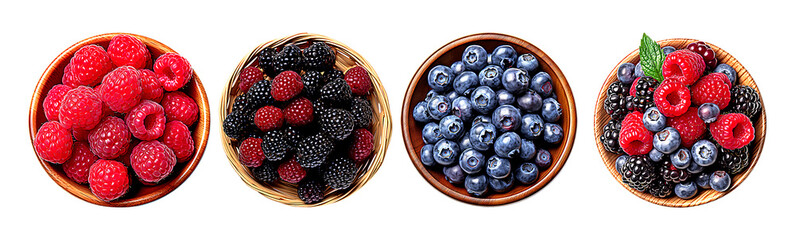
[[(67, 48), (60, 55), (58, 55), (58, 57), (55, 58), (52, 63), (50, 63), (50, 65), (44, 71), (44, 74), (41, 75), (38, 85), (36, 85), (36, 91), (33, 93), (33, 98), (30, 101), (29, 128), (31, 144), (33, 143), (33, 139), (36, 137), (36, 132), (38, 131), (39, 127), (47, 122), (47, 118), (44, 116), (44, 108), (42, 107), (44, 97), (47, 94), (47, 91), (52, 88), (52, 86), (61, 83), (63, 69), (66, 67), (66, 64), (69, 63), (72, 55), (81, 47), (90, 44), (97, 44), (107, 49), (111, 38), (119, 34), (135, 36), (143, 41), (143, 43), (149, 48), (149, 52), (152, 54), (152, 61), (164, 53), (175, 52), (165, 44), (162, 44), (154, 39), (131, 33), (106, 33), (97, 35), (84, 39)], [(210, 106), (207, 102), (207, 94), (204, 92), (204, 86), (202, 85), (201, 80), (199, 80), (199, 76), (196, 75), (196, 71), (193, 72), (192, 80), (188, 82), (182, 91), (188, 96), (192, 97), (199, 106), (198, 121), (196, 121), (195, 125), (191, 127), (193, 130), (195, 151), (189, 161), (177, 163), (177, 165), (174, 167), (174, 172), (160, 184), (155, 186), (143, 186), (138, 182), (137, 179), (135, 179), (135, 177), (131, 176), (130, 192), (118, 200), (105, 202), (94, 196), (94, 194), (92, 194), (91, 190), (88, 188), (88, 185), (78, 184), (69, 179), (69, 177), (67, 177), (61, 169), (60, 164), (52, 164), (44, 161), (41, 158), (39, 158), (39, 163), (41, 163), (41, 166), (44, 167), (44, 170), (50, 175), (52, 180), (64, 190), (71, 193), (75, 197), (93, 204), (109, 207), (129, 207), (145, 204), (167, 195), (179, 187), (179, 185), (182, 184), (182, 182), (184, 182), (191, 173), (193, 173), (193, 170), (196, 168), (196, 165), (199, 164), (199, 160), (201, 160), (201, 157), (204, 154), (204, 147), (207, 146), (207, 138), (210, 133)], [(132, 148), (132, 146), (130, 146), (130, 148)]]

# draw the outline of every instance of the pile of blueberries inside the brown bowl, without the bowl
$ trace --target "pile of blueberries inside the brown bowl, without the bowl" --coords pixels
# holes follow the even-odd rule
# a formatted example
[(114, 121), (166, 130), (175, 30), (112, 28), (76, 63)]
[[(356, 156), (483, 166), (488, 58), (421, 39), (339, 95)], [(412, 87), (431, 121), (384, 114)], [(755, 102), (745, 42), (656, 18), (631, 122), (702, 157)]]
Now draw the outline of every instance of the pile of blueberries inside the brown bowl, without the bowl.
[(414, 106), (422, 164), (482, 197), (533, 184), (552, 165), (544, 148), (563, 139), (552, 80), (530, 53), (470, 45), (461, 61), (428, 73), (431, 90)]

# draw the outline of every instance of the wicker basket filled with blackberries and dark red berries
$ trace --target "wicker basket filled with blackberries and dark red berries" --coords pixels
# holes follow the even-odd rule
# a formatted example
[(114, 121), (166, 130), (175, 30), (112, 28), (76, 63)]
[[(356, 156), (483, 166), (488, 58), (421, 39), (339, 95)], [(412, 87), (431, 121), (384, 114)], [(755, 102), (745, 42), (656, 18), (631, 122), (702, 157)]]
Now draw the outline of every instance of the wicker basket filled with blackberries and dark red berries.
[(299, 33), (258, 46), (221, 99), (222, 140), (240, 178), (291, 206), (349, 196), (373, 177), (392, 132), (375, 70), (348, 46)]

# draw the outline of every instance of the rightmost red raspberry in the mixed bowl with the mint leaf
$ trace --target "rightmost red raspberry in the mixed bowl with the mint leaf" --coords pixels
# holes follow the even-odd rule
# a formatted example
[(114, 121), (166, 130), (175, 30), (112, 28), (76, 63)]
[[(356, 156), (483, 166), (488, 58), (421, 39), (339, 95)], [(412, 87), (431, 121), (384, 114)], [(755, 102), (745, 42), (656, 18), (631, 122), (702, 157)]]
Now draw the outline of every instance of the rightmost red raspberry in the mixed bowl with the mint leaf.
[(745, 114), (728, 113), (718, 116), (718, 119), (709, 125), (709, 132), (723, 148), (734, 150), (751, 143), (756, 129)]

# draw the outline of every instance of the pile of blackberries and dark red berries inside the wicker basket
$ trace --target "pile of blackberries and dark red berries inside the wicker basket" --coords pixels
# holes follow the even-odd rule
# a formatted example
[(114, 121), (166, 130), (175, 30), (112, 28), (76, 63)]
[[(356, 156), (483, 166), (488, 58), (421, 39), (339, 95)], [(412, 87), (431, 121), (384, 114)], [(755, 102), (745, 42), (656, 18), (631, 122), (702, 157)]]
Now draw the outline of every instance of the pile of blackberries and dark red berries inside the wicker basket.
[(239, 160), (262, 183), (297, 184), (307, 204), (326, 187), (347, 189), (375, 146), (372, 83), (361, 66), (334, 69), (336, 53), (323, 42), (262, 50), (243, 70), (224, 133)]

